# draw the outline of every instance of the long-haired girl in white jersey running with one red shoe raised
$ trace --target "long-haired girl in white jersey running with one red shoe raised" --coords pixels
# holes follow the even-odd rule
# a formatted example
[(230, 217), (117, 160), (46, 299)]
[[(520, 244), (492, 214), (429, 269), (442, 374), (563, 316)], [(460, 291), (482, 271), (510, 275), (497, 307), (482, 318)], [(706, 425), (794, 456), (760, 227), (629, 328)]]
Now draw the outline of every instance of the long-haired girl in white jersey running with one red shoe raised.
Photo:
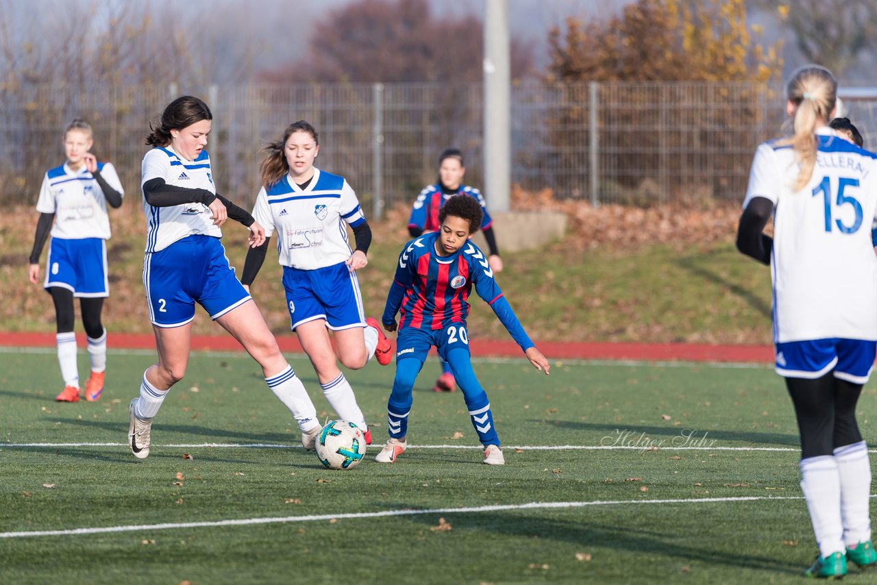
[[(384, 366), (393, 359), (392, 342), (375, 319), (365, 317), (356, 277), (356, 271), (368, 264), (371, 228), (344, 177), (314, 167), (320, 146), (317, 131), (308, 122), (289, 125), (282, 139), (266, 151), (262, 188), (253, 209), (253, 217), (265, 226), (266, 240), (247, 251), (241, 282), (249, 290), (265, 261), (268, 238), (276, 232), (292, 330), (332, 409), (359, 426), (370, 444), (366, 419), (338, 361), (359, 369), (373, 355)], [(353, 228), (355, 251), (347, 240), (347, 225)], [(314, 439), (318, 432), (319, 427)]]

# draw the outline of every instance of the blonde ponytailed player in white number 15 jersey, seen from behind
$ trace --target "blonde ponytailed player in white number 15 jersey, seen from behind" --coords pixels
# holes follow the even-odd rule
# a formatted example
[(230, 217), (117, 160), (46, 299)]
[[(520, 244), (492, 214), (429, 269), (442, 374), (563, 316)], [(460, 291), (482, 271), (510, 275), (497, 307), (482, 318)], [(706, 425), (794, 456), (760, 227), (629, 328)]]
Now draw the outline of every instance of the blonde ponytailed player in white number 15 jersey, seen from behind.
[[(842, 577), (877, 564), (871, 467), (856, 403), (877, 347), (877, 161), (828, 124), (838, 83), (799, 69), (786, 111), (795, 135), (759, 146), (737, 245), (772, 271), (776, 371), (801, 434), (801, 488), (819, 554), (806, 574)], [(762, 233), (774, 216), (774, 238)]]

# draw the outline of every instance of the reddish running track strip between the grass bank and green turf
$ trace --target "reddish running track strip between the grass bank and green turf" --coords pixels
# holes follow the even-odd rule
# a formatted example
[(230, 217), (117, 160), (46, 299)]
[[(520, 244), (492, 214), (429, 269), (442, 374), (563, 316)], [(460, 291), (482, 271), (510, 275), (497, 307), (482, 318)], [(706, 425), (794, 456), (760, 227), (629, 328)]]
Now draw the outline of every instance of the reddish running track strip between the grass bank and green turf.
[[(77, 335), (79, 346), (85, 346), (85, 336)], [(301, 353), (296, 337), (278, 337), (283, 352)], [(125, 349), (153, 349), (152, 335), (109, 333), (110, 347)], [(54, 333), (0, 332), (0, 346), (54, 347)], [(709, 346), (687, 343), (595, 343), (589, 341), (540, 341), (539, 351), (550, 360), (642, 360), (642, 361), (725, 361), (773, 363), (773, 346)], [(229, 335), (193, 337), (192, 349), (213, 351), (243, 351)], [(520, 347), (512, 340), (473, 339), (470, 350), (478, 357), (523, 357)]]

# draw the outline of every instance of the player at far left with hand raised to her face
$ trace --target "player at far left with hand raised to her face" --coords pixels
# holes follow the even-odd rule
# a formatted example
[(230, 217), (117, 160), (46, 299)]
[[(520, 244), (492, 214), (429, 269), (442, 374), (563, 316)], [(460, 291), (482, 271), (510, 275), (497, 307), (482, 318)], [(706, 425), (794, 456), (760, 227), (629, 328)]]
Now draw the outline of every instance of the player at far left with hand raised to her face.
[(103, 299), (110, 296), (106, 240), (111, 233), (107, 203), (117, 208), (122, 204), (125, 191), (112, 164), (98, 162), (90, 152), (94, 136), (87, 122), (79, 118), (73, 120), (64, 131), (63, 146), (67, 162), (50, 168), (39, 189), (39, 221), (27, 275), (34, 284), (39, 282), (39, 256), (51, 230), (43, 288), (52, 295), (55, 307), (55, 339), (64, 379), (64, 389), (55, 400), (79, 401), (73, 330), (73, 299), (78, 297), (91, 365), (85, 399), (94, 402), (103, 392), (107, 363), (107, 332), (101, 322)]

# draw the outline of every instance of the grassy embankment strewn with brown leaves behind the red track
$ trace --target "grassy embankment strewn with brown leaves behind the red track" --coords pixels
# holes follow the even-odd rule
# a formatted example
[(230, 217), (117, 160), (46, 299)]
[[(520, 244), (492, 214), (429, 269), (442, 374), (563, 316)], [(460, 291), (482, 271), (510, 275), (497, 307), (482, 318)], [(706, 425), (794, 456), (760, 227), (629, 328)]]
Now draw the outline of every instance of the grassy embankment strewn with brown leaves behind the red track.
[[(769, 343), (770, 275), (733, 246), (734, 208), (707, 211), (638, 210), (581, 203), (567, 207), (566, 239), (541, 250), (503, 253), (497, 281), (534, 339)], [(0, 215), (0, 331), (53, 332), (54, 310), (41, 286), (27, 282), (26, 265), (37, 214), (30, 208)], [(379, 317), (408, 239), (407, 210), (391, 210), (373, 225), (374, 243), (360, 284), (368, 315)], [(151, 332), (141, 271), (145, 219), (139, 202), (111, 213), (111, 297), (104, 310), (110, 332)], [(246, 232), (226, 225), (232, 265), (243, 268)], [(45, 270), (46, 251), (42, 270)], [(44, 274), (44, 273), (43, 273)], [(289, 316), (274, 251), (253, 286), (268, 325), (289, 333)], [(469, 328), (474, 339), (503, 339), (493, 311), (476, 297)], [(198, 310), (194, 332), (219, 328)], [(81, 331), (81, 325), (77, 324)]]

